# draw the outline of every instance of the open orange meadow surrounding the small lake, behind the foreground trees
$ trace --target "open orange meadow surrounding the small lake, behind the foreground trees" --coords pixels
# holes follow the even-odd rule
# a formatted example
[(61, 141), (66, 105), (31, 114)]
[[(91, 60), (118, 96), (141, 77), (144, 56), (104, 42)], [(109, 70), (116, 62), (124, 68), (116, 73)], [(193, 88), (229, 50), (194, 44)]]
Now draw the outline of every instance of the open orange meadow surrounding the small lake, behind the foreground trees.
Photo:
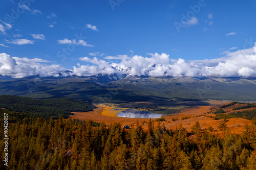
[[(156, 111), (157, 113), (165, 113), (162, 117), (164, 121), (161, 121), (161, 125), (164, 125), (166, 129), (176, 129), (176, 127), (182, 125), (188, 132), (192, 131), (192, 127), (199, 122), (202, 130), (207, 130), (209, 127), (212, 127), (212, 134), (222, 134), (223, 131), (219, 129), (219, 124), (223, 121), (223, 119), (216, 119), (218, 117), (214, 114), (213, 110), (217, 110), (224, 104), (228, 104), (227, 101), (208, 101), (211, 106), (180, 106), (180, 107), (158, 107), (158, 109), (162, 109), (161, 111)], [(230, 102), (229, 102), (230, 103)], [(213, 105), (212, 105), (213, 104)], [(144, 129), (147, 129), (147, 122), (149, 119), (145, 118), (126, 118), (126, 117), (118, 117), (116, 114), (122, 110), (129, 109), (127, 107), (120, 108), (118, 104), (99, 104), (93, 111), (89, 112), (72, 112), (73, 115), (71, 117), (73, 119), (79, 120), (93, 120), (94, 122), (103, 122), (106, 125), (110, 125), (113, 123), (120, 123), (122, 126), (128, 125), (130, 127), (135, 126), (138, 121), (141, 123)], [(225, 114), (233, 112), (232, 109), (234, 107), (240, 106), (239, 104), (229, 106), (224, 108)], [(131, 108), (130, 108), (131, 109)], [(243, 110), (251, 110), (242, 109)], [(139, 110), (148, 110), (139, 108)], [(169, 114), (166, 114), (169, 112)], [(152, 119), (154, 126), (157, 126), (157, 119)], [(245, 118), (227, 118), (227, 128), (231, 133), (241, 134), (245, 129), (246, 125), (251, 125), (252, 121)]]

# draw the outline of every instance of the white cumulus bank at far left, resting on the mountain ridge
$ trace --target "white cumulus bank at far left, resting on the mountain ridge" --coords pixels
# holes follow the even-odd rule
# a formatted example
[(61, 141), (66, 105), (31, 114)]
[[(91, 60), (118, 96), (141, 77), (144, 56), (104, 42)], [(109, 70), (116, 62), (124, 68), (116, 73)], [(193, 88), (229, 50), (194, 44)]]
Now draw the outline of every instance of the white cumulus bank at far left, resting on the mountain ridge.
[(38, 58), (28, 59), (11, 57), (8, 54), (0, 54), (0, 74), (3, 76), (12, 76), (22, 78), (27, 76), (39, 75), (41, 77), (54, 76), (60, 71), (65, 71), (60, 65), (46, 65), (50, 61)]

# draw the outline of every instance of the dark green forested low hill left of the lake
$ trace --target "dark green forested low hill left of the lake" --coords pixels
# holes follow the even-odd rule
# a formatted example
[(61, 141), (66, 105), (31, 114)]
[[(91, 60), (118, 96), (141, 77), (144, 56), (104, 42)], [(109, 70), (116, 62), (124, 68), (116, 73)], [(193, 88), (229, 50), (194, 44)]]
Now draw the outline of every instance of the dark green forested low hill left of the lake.
[(49, 119), (51, 116), (56, 119), (59, 115), (68, 118), (73, 111), (87, 112), (95, 108), (94, 105), (83, 100), (67, 98), (39, 100), (13, 95), (1, 95), (0, 107)]

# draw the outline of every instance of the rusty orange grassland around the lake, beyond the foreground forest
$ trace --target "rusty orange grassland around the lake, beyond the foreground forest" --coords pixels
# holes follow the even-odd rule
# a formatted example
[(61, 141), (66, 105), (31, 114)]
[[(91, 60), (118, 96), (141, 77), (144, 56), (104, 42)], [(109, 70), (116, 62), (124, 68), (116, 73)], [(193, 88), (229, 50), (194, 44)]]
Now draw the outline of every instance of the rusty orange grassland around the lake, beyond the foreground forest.
[[(175, 113), (175, 114), (169, 114), (169, 115), (164, 115), (163, 117), (165, 118), (164, 126), (166, 129), (175, 129), (176, 126), (179, 127), (180, 124), (182, 124), (182, 127), (187, 129), (187, 131), (191, 131), (191, 127), (193, 127), (196, 122), (200, 123), (200, 127), (202, 130), (206, 130), (210, 126), (214, 129), (212, 134), (222, 134), (223, 132), (219, 130), (218, 126), (222, 119), (220, 120), (215, 120), (214, 118), (206, 117), (207, 116), (215, 116), (214, 114), (207, 114), (208, 111), (211, 110), (211, 108), (219, 108), (225, 103), (228, 103), (227, 101), (209, 101), (209, 103), (214, 104), (212, 106), (195, 106), (195, 107), (190, 107), (190, 108), (184, 108), (181, 109), (180, 112)], [(236, 104), (237, 106), (238, 104)], [(90, 112), (72, 112), (73, 115), (71, 115), (71, 118), (76, 118), (79, 120), (93, 120), (94, 122), (103, 122), (106, 125), (110, 125), (113, 123), (120, 123), (122, 126), (124, 125), (129, 125), (131, 126), (132, 124), (135, 125), (136, 121), (143, 123), (143, 122), (148, 122), (149, 119), (145, 118), (126, 118), (126, 117), (117, 117), (116, 113), (118, 113), (120, 110), (114, 110), (113, 106), (111, 105), (96, 105), (97, 107), (95, 110), (90, 111)], [(236, 106), (231, 106), (228, 108), (225, 108), (225, 111), (228, 111), (228, 109), (231, 111), (232, 107)], [(115, 108), (115, 107), (114, 107)], [(118, 108), (115, 108), (118, 109)], [(124, 109), (124, 108), (121, 108)], [(190, 116), (191, 118), (181, 120), (182, 116)], [(198, 117), (196, 117), (198, 116)], [(179, 120), (172, 122), (173, 118), (178, 118)], [(153, 121), (156, 119), (152, 119)], [(251, 125), (252, 121), (248, 119), (243, 119), (243, 118), (230, 118), (227, 119), (228, 122), (226, 123), (229, 131), (231, 133), (238, 133), (241, 134), (245, 129), (244, 126), (246, 124)], [(161, 123), (161, 125), (163, 124)], [(156, 126), (158, 122), (154, 122), (154, 125)], [(147, 125), (144, 124), (142, 125), (144, 129), (147, 129)]]

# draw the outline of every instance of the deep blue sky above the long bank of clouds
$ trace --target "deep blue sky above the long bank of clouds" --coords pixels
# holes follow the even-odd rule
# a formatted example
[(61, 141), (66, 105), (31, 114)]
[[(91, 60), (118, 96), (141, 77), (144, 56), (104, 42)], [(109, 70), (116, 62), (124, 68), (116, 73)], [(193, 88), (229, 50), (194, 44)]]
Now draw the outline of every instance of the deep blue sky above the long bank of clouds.
[(0, 6), (0, 53), (66, 69), (95, 65), (94, 57), (118, 63), (118, 55), (218, 59), (256, 41), (255, 1), (3, 0)]

